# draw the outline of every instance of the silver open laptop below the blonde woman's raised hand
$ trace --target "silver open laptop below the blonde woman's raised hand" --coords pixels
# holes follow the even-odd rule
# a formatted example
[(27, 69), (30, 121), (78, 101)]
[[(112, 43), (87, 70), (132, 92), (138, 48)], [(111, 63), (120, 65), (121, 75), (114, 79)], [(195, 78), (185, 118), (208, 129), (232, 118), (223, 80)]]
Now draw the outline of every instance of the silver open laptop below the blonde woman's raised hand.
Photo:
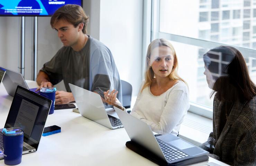
[(93, 120), (110, 129), (123, 127), (120, 119), (107, 114), (99, 94), (70, 83), (69, 86), (79, 112), (83, 117)]

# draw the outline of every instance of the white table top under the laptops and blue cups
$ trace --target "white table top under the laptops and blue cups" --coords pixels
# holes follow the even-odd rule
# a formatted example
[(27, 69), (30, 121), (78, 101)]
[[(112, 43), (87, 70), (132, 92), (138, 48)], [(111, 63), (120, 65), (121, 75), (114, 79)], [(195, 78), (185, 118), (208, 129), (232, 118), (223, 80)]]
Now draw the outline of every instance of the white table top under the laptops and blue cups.
[[(32, 88), (33, 82), (28, 82)], [(0, 128), (4, 126), (12, 102), (0, 85)], [(156, 165), (126, 148), (129, 137), (124, 128), (110, 130), (82, 117), (72, 109), (55, 110), (48, 116), (45, 127), (57, 125), (61, 133), (42, 137), (35, 153), (22, 155), (20, 166), (84, 166), (84, 165)], [(208, 162), (227, 166), (213, 158), (193, 164), (203, 166)], [(0, 160), (0, 166), (4, 160)]]

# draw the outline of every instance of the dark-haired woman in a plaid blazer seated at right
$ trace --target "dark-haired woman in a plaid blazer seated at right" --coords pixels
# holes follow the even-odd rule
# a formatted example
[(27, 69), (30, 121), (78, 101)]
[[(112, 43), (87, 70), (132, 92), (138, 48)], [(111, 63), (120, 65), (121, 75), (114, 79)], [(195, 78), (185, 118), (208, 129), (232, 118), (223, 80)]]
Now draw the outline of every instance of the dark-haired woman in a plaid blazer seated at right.
[[(213, 132), (201, 147), (235, 166), (256, 165), (256, 86), (242, 54), (220, 46), (204, 56), (213, 101)], [(211, 94), (211, 96), (213, 95)]]

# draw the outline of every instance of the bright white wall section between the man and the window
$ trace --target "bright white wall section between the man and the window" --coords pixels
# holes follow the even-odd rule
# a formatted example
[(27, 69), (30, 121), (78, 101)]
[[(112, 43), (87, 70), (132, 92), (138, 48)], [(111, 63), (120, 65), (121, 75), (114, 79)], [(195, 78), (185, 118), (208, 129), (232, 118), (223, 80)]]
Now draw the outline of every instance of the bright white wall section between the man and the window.
[(143, 0), (101, 0), (100, 41), (110, 48), (121, 80), (131, 83), (133, 95), (141, 83), (142, 29)]

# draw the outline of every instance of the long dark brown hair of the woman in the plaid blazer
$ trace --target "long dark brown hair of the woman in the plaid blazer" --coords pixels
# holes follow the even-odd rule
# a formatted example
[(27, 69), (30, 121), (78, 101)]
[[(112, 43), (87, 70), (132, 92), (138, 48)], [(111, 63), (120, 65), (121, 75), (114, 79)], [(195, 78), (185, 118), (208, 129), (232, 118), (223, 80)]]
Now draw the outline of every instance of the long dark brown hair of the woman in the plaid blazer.
[[(256, 96), (256, 86), (250, 79), (245, 59), (239, 50), (231, 46), (220, 46), (211, 49), (209, 52), (220, 53), (222, 58), (222, 63), (219, 62), (221, 64), (218, 65), (221, 68), (221, 74), (213, 85), (211, 96), (214, 92), (217, 92), (217, 99), (224, 102), (237, 100), (244, 102)], [(209, 52), (204, 55), (204, 60), (207, 59), (205, 56), (211, 58)], [(223, 62), (226, 62), (226, 64)], [(212, 72), (213, 67), (210, 67), (209, 62), (204, 61), (204, 63), (208, 70)]]

